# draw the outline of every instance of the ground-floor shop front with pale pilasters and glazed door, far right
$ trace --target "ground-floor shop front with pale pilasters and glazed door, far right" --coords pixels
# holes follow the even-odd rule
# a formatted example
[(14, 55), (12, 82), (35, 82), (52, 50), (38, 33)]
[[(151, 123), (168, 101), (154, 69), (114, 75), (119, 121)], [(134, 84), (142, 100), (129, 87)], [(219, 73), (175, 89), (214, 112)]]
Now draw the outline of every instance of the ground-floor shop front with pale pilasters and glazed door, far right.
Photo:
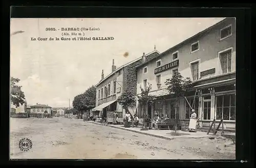
[(235, 80), (198, 87), (200, 127), (209, 127), (215, 119), (221, 120), (224, 129), (236, 129), (236, 85)]

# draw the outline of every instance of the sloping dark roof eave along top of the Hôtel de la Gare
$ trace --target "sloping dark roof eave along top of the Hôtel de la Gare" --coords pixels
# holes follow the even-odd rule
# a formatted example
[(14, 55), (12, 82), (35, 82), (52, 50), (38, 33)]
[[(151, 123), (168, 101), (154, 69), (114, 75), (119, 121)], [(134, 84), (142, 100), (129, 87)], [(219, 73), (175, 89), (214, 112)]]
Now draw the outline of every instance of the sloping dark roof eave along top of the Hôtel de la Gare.
[(143, 64), (140, 64), (140, 65), (136, 66), (136, 68), (139, 68), (139, 67), (141, 67), (141, 66), (143, 66), (143, 65), (145, 65), (145, 64), (147, 64), (147, 63), (149, 63), (149, 62), (151, 62), (151, 61), (153, 61), (153, 60), (159, 59), (160, 57), (162, 57), (163, 55), (165, 55), (165, 53), (168, 53), (169, 51), (171, 51), (171, 50), (177, 48), (178, 46), (180, 46), (180, 45), (182, 45), (182, 44), (184, 44), (184, 43), (186, 43), (186, 42), (188, 42), (188, 41), (190, 41), (190, 40), (192, 40), (192, 39), (194, 39), (194, 38), (196, 38), (196, 37), (202, 35), (203, 33), (206, 33), (206, 32), (208, 32), (208, 31), (210, 31), (212, 28), (216, 27), (217, 25), (221, 24), (222, 22), (226, 21), (227, 19), (228, 19), (228, 18), (225, 18), (225, 19), (223, 19), (223, 20), (217, 22), (216, 24), (214, 24), (214, 25), (212, 25), (212, 26), (206, 28), (205, 30), (203, 30), (203, 31), (201, 31), (201, 32), (199, 32), (199, 33), (197, 33), (196, 35), (189, 37), (188, 39), (186, 39), (186, 40), (180, 42), (179, 44), (176, 44), (175, 46), (173, 46), (173, 47), (167, 49), (166, 51), (164, 51), (164, 52), (162, 52), (162, 53), (160, 53), (160, 54), (158, 55), (158, 57), (152, 58), (151, 60), (148, 60), (148, 61), (144, 62)]

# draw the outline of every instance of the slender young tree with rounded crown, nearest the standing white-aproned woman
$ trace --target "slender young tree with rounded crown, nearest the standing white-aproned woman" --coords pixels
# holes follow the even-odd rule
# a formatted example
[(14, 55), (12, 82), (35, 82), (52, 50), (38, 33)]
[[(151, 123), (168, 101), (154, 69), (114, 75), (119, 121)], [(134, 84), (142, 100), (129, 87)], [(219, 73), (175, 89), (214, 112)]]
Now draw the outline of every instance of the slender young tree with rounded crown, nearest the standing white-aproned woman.
[[(165, 85), (169, 94), (176, 97), (176, 111), (179, 108), (179, 99), (184, 97), (186, 91), (192, 87), (192, 81), (189, 77), (183, 78), (180, 72), (175, 72), (171, 79), (166, 79)], [(177, 114), (175, 114), (175, 121), (177, 121)], [(177, 123), (176, 123), (177, 124)], [(177, 132), (177, 125), (175, 125), (175, 133)]]

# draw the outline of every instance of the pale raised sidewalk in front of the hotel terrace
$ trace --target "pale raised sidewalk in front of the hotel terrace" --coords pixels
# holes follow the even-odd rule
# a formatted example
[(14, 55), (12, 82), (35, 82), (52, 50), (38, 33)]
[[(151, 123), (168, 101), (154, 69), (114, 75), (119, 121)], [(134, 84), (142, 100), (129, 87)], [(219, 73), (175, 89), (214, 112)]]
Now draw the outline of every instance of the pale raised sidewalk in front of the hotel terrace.
[[(92, 122), (92, 121), (86, 121), (86, 122), (101, 125), (101, 123), (97, 123), (97, 122)], [(197, 131), (197, 132), (178, 131), (178, 133), (180, 135), (174, 136), (174, 135), (170, 134), (173, 132), (172, 130), (145, 130), (145, 131), (142, 131), (142, 130), (140, 130), (141, 128), (136, 128), (136, 127), (125, 128), (123, 125), (108, 125), (108, 126), (117, 128), (117, 129), (126, 130), (126, 131), (136, 132), (136, 133), (140, 133), (140, 134), (144, 134), (144, 135), (168, 139), (168, 140), (173, 140), (175, 138), (202, 138), (202, 137), (220, 136), (220, 134), (218, 134), (218, 133), (216, 135), (213, 135), (213, 134), (207, 135), (206, 132), (201, 132), (201, 131)]]

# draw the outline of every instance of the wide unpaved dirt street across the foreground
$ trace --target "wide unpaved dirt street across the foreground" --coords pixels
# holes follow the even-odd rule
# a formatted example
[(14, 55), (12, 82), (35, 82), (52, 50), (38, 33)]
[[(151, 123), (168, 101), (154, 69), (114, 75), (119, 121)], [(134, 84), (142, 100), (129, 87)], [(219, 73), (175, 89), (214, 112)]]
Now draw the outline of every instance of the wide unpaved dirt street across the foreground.
[[(222, 137), (157, 137), (67, 118), (11, 118), (11, 159), (234, 159), (235, 145)], [(18, 142), (32, 141), (22, 152)]]

